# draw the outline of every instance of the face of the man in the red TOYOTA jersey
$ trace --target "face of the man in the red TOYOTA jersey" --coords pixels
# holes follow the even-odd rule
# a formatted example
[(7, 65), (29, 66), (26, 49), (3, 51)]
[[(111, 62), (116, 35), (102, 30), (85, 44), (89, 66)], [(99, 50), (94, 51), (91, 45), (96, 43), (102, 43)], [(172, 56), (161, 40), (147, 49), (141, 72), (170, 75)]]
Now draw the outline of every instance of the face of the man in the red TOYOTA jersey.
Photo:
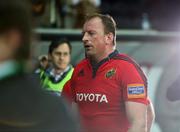
[(106, 48), (106, 35), (101, 19), (95, 17), (87, 21), (83, 26), (82, 33), (87, 57), (103, 56)]

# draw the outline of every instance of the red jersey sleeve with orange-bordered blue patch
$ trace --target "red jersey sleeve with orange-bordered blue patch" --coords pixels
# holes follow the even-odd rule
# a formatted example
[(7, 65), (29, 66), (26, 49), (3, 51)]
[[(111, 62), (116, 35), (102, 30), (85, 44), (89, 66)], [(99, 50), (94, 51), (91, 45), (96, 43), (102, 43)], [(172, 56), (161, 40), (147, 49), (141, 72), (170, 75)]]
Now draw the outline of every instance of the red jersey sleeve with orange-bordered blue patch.
[(140, 69), (135, 65), (124, 62), (122, 75), (122, 91), (124, 101), (139, 102), (148, 105), (147, 79)]

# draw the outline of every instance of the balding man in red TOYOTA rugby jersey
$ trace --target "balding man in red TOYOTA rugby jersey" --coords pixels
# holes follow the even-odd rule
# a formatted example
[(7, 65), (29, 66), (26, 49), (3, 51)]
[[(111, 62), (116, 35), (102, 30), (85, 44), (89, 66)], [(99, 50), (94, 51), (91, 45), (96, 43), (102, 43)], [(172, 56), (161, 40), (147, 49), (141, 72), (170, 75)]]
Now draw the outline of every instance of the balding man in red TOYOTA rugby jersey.
[(150, 131), (154, 113), (147, 80), (134, 60), (115, 49), (113, 18), (88, 16), (82, 33), (86, 58), (76, 66), (63, 95), (77, 104), (83, 131)]

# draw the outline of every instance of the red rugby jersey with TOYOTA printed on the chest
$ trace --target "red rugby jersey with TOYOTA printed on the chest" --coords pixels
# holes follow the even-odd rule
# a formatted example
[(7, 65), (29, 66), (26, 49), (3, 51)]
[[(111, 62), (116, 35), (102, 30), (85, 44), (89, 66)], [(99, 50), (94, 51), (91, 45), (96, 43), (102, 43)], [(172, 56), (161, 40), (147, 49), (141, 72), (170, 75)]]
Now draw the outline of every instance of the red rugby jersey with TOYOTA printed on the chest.
[(125, 101), (148, 104), (146, 81), (131, 58), (114, 51), (94, 67), (81, 61), (63, 94), (77, 103), (84, 131), (127, 132)]

